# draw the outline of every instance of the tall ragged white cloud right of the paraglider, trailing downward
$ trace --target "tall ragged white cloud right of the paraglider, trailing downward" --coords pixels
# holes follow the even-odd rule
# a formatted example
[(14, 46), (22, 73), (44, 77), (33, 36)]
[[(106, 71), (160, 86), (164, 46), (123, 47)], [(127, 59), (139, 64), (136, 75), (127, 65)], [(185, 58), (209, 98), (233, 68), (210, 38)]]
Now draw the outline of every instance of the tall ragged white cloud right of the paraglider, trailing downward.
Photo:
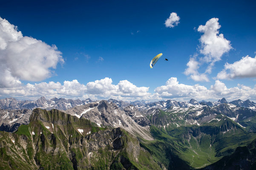
[[(211, 74), (215, 62), (221, 60), (223, 54), (232, 49), (230, 41), (225, 39), (223, 34), (219, 34), (221, 26), (218, 21), (218, 18), (212, 18), (197, 29), (198, 32), (204, 33), (199, 39), (201, 44), (199, 52), (203, 54), (203, 57), (198, 57), (198, 55), (190, 57), (184, 71), (184, 74), (190, 75), (190, 78), (195, 81), (209, 82), (207, 75)], [(207, 68), (204, 73), (199, 74), (198, 69), (203, 64), (206, 64)]]

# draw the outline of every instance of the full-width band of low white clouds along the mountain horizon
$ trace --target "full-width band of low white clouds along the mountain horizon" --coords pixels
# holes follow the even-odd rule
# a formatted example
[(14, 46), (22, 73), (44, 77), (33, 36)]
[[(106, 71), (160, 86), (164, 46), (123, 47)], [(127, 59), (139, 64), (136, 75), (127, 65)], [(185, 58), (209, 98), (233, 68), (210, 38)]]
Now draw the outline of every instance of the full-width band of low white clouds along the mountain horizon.
[(66, 99), (117, 99), (123, 101), (150, 100), (159, 101), (163, 99), (175, 99), (178, 101), (188, 101), (204, 99), (216, 101), (225, 97), (232, 101), (235, 99), (256, 100), (256, 85), (254, 88), (237, 85), (237, 87), (227, 88), (227, 86), (216, 80), (209, 89), (205, 86), (179, 84), (177, 78), (171, 77), (165, 85), (155, 88), (155, 93), (148, 93), (149, 87), (137, 87), (127, 80), (121, 80), (117, 85), (112, 84), (112, 79), (106, 77), (86, 85), (77, 80), (60, 82), (41, 82), (39, 84), (22, 85), (16, 82), (13, 87), (0, 87), (0, 96), (15, 97), (17, 99), (38, 99), (45, 96), (47, 99), (57, 97)]

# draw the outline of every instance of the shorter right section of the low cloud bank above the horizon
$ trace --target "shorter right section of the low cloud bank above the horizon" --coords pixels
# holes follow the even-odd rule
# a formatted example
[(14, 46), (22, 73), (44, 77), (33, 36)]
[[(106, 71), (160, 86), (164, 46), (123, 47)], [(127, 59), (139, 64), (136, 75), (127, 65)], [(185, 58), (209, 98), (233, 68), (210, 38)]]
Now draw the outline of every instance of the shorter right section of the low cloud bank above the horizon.
[(216, 100), (225, 97), (229, 100), (235, 99), (256, 99), (256, 86), (250, 88), (245, 85), (238, 85), (237, 87), (227, 88), (227, 86), (216, 80), (210, 89), (199, 84), (197, 85), (184, 85), (179, 84), (176, 77), (171, 77), (165, 85), (155, 88), (155, 94), (164, 99), (208, 99)]

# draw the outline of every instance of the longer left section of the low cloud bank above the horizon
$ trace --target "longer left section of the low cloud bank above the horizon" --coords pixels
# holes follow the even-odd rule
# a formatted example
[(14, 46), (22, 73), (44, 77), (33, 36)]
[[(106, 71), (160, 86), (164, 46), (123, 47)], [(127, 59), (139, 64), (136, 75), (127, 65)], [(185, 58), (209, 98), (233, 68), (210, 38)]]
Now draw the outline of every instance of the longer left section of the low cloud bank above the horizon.
[(46, 98), (63, 97), (63, 98), (91, 98), (91, 99), (144, 99), (150, 96), (149, 87), (137, 87), (127, 80), (121, 80), (118, 85), (112, 84), (112, 79), (106, 77), (94, 82), (88, 82), (86, 85), (77, 80), (60, 82), (41, 82), (39, 84), (30, 84), (13, 86), (9, 88), (0, 88), (0, 95), (19, 96), (19, 98)]

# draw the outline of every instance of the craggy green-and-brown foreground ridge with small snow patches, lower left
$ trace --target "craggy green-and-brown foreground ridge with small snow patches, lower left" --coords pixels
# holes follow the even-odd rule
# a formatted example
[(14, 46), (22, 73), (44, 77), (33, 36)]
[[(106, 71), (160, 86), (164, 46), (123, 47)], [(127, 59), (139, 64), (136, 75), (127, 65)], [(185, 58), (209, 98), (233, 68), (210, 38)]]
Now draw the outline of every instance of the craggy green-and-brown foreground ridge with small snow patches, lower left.
[(92, 170), (161, 168), (140, 147), (138, 139), (120, 127), (93, 127), (58, 110), (35, 109), (29, 125), (0, 132), (0, 169)]

